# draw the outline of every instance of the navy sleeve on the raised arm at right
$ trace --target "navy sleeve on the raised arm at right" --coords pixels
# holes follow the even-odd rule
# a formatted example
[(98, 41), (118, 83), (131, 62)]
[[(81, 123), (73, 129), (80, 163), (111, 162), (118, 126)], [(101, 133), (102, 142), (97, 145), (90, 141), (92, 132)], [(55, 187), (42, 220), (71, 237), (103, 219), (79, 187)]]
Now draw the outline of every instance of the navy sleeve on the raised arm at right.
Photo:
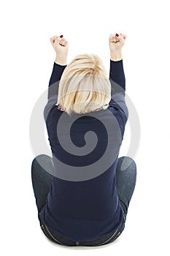
[(125, 73), (123, 60), (112, 61), (110, 59), (109, 81), (111, 83), (111, 101), (109, 105), (123, 111), (128, 119), (128, 108), (125, 104)]

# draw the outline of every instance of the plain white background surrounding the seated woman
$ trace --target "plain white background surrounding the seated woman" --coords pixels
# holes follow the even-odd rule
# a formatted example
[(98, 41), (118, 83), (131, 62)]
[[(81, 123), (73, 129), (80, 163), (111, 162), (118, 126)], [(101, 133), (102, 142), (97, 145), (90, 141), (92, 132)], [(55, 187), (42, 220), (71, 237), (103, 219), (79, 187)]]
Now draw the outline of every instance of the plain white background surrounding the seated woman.
[[(3, 255), (169, 255), (168, 4), (165, 0), (1, 1)], [(108, 37), (115, 32), (128, 35), (123, 47), (126, 93), (141, 127), (139, 148), (135, 155), (128, 154), (136, 161), (138, 176), (125, 230), (106, 246), (55, 245), (45, 238), (37, 219), (31, 187), (36, 155), (29, 138), (31, 113), (47, 90), (55, 59), (49, 40), (63, 34), (69, 40), (68, 62), (79, 53), (96, 53), (109, 73)], [(42, 129), (46, 136), (45, 124)], [(120, 156), (127, 154), (130, 136), (135, 135), (128, 122)], [(39, 154), (45, 154), (40, 143)]]

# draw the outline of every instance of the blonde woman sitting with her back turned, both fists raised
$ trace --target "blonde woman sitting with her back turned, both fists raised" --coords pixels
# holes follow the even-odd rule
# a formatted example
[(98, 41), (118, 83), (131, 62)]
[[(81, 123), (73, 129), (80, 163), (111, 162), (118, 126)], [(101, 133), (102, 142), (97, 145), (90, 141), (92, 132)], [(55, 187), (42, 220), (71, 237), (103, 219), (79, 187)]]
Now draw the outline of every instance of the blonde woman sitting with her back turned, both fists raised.
[(128, 119), (125, 39), (109, 36), (109, 78), (94, 54), (67, 65), (68, 42), (50, 39), (56, 58), (44, 116), (53, 157), (35, 157), (31, 175), (40, 226), (57, 244), (101, 246), (125, 227), (136, 184), (134, 160), (118, 158)]

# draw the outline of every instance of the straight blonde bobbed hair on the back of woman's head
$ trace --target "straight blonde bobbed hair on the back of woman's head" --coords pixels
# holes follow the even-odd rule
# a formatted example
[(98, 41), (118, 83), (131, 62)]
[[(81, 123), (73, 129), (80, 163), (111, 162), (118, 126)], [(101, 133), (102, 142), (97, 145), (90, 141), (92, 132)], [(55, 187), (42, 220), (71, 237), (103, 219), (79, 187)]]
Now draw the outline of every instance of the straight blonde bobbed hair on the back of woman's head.
[(63, 71), (55, 105), (71, 115), (89, 113), (109, 104), (111, 84), (101, 59), (95, 54), (76, 56)]

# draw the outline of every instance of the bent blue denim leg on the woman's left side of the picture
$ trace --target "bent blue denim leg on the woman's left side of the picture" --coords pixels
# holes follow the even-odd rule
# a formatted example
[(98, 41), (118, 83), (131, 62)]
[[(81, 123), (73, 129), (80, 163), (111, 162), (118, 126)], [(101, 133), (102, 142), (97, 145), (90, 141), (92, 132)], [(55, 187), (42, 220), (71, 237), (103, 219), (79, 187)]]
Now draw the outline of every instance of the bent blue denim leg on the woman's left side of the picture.
[(53, 159), (45, 154), (35, 157), (31, 165), (32, 186), (38, 212), (45, 206), (53, 182)]

